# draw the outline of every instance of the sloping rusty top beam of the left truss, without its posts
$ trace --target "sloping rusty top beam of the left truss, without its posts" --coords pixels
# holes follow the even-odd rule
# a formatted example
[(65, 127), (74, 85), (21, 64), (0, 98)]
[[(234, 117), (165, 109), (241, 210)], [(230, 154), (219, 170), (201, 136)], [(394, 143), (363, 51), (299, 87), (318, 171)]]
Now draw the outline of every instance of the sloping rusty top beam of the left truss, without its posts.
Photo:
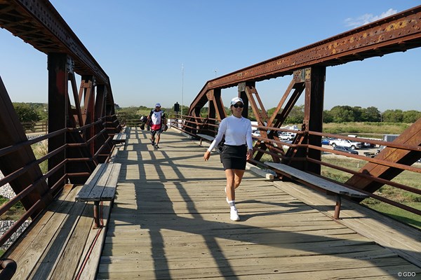
[(11, 31), (40, 52), (67, 53), (76, 73), (93, 75), (109, 85), (109, 78), (50, 1), (0, 0), (0, 27)]

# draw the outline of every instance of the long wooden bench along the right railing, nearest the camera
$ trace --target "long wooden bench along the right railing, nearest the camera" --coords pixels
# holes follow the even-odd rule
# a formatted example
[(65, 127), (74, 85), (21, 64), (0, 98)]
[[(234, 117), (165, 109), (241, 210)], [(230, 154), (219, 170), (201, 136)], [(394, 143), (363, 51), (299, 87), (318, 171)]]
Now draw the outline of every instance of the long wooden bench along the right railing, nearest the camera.
[(352, 190), (350, 188), (346, 188), (338, 183), (333, 183), (326, 179), (320, 178), (318, 176), (314, 176), (307, 172), (303, 172), (299, 169), (289, 167), (288, 165), (283, 165), (281, 163), (274, 163), (274, 162), (265, 162), (265, 165), (272, 167), (283, 174), (286, 174), (291, 179), (295, 179), (298, 181), (302, 181), (304, 183), (309, 183), (312, 186), (317, 188), (321, 188), (323, 190), (327, 190), (328, 193), (335, 193), (336, 194), (336, 205), (335, 205), (335, 214), (333, 218), (338, 219), (340, 214), (340, 206), (341, 206), (341, 197), (343, 195), (347, 197), (357, 197), (357, 198), (367, 198), (368, 195), (365, 193), (361, 193), (358, 190)]

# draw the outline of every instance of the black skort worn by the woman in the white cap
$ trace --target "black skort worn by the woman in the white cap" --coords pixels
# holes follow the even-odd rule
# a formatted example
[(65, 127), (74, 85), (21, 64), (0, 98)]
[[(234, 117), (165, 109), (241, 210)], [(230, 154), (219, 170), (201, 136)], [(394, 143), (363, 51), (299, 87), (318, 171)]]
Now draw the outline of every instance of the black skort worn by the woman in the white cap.
[(226, 169), (246, 170), (247, 146), (224, 145), (221, 152), (221, 162)]

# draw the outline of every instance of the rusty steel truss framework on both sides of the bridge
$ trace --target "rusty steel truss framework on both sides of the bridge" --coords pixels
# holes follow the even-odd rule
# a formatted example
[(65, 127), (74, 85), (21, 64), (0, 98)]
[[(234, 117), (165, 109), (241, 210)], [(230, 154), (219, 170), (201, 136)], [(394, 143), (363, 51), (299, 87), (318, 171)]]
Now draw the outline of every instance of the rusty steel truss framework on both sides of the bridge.
[[(98, 164), (107, 162), (114, 149), (114, 134), (125, 124), (114, 111), (107, 73), (49, 1), (0, 0), (0, 27), (48, 57), (48, 133), (42, 137), (27, 139), (0, 78), (0, 170), (4, 174), (0, 187), (8, 183), (16, 193), (1, 206), (0, 213), (5, 214), (18, 202), (25, 207), (25, 214), (0, 237), (0, 244), (4, 244), (28, 218), (35, 219), (46, 209), (65, 184), (84, 183)], [(322, 176), (323, 166), (338, 169), (350, 175), (341, 183), (343, 186), (420, 216), (419, 209), (376, 195), (375, 191), (388, 185), (421, 195), (420, 188), (392, 181), (402, 172), (421, 173), (420, 167), (413, 165), (421, 158), (421, 119), (392, 142), (370, 140), (371, 144), (386, 148), (374, 158), (365, 158), (366, 165), (358, 171), (323, 162), (321, 157), (323, 152), (331, 152), (321, 146), (322, 137), (338, 137), (323, 133), (326, 67), (420, 47), (421, 6), (417, 6), (208, 80), (192, 100), (187, 115), (178, 116), (183, 120), (182, 127), (176, 127), (193, 137), (198, 134), (214, 137), (218, 122), (227, 116), (222, 90), (237, 87), (246, 108), (250, 106), (253, 110), (258, 121), (256, 128), (260, 130), (260, 137), (255, 137), (251, 163), (270, 169), (262, 160), (266, 154), (273, 162), (316, 176)], [(80, 81), (76, 81), (76, 73), (81, 76)], [(290, 84), (269, 116), (256, 83), (282, 76), (291, 76)], [(292, 143), (282, 144), (278, 132), (288, 131), (282, 127), (302, 95), (305, 118), (301, 130)], [(203, 117), (201, 111), (206, 105), (208, 113)], [(248, 117), (248, 110), (243, 110), (243, 116)], [(48, 153), (36, 158), (31, 145), (40, 141), (48, 141)], [(288, 148), (283, 149), (282, 145)], [(347, 156), (362, 158), (361, 155)], [(48, 162), (45, 174), (39, 167), (41, 162)], [(282, 172), (278, 176), (287, 179)]]

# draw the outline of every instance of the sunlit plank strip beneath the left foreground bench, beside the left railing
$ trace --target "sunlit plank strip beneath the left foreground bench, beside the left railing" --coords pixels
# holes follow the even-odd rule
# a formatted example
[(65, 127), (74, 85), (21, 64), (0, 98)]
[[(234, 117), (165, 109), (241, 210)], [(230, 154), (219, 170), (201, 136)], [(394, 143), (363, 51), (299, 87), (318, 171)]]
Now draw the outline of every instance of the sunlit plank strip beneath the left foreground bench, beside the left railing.
[[(41, 218), (6, 251), (4, 258), (15, 260), (18, 265), (13, 280), (75, 279), (79, 272), (80, 279), (94, 279), (105, 231), (92, 230), (92, 204), (74, 201), (80, 189), (81, 186), (66, 185)], [(102, 207), (105, 223), (109, 204), (105, 202)], [(85, 260), (87, 269), (82, 270)]]

